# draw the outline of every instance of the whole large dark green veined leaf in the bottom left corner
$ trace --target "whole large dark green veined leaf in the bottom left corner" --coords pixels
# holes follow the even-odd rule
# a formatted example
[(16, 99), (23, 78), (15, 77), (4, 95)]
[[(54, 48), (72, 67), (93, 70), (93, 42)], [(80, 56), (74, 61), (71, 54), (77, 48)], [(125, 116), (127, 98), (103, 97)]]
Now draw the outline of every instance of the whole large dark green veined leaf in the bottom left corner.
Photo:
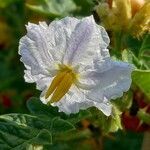
[(27, 114), (1, 115), (0, 148), (20, 150), (31, 149), (38, 145), (40, 147), (51, 145), (52, 135), (57, 139), (64, 134), (71, 134), (72, 131), (75, 131), (73, 124), (59, 117), (48, 118)]

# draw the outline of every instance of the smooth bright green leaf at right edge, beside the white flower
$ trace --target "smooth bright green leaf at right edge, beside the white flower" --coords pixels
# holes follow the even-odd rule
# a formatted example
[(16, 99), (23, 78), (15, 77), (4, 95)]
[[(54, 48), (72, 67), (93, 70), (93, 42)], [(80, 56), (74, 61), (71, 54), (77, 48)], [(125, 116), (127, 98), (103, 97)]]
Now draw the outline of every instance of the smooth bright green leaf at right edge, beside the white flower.
[(150, 70), (135, 70), (132, 80), (150, 100)]

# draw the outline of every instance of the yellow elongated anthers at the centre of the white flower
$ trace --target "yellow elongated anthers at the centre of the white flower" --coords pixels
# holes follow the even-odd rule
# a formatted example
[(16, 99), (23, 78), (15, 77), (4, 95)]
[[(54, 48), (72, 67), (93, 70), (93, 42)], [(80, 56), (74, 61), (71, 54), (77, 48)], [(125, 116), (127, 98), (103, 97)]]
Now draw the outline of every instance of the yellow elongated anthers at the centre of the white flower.
[(50, 95), (50, 103), (58, 102), (70, 89), (71, 85), (75, 83), (78, 74), (70, 66), (59, 65), (59, 71), (50, 84), (45, 98)]

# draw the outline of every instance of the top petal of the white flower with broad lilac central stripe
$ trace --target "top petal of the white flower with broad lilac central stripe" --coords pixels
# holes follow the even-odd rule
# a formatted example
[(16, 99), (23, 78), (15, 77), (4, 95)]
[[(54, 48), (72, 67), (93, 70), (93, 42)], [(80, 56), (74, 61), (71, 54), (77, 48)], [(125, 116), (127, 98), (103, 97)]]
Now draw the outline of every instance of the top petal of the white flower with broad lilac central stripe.
[[(109, 37), (105, 29), (98, 26), (93, 16), (82, 19), (75, 27), (67, 43), (64, 64), (92, 68), (94, 59), (109, 57)], [(81, 72), (81, 71), (79, 71)]]

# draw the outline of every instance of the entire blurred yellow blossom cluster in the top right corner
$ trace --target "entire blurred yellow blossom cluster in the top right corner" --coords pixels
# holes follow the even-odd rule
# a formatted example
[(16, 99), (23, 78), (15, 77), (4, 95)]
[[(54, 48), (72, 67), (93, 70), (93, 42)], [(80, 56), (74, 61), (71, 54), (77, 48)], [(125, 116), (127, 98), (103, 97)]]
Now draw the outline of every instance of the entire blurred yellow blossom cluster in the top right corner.
[(96, 6), (96, 12), (106, 29), (126, 31), (137, 38), (149, 31), (149, 10), (149, 0), (108, 0)]

